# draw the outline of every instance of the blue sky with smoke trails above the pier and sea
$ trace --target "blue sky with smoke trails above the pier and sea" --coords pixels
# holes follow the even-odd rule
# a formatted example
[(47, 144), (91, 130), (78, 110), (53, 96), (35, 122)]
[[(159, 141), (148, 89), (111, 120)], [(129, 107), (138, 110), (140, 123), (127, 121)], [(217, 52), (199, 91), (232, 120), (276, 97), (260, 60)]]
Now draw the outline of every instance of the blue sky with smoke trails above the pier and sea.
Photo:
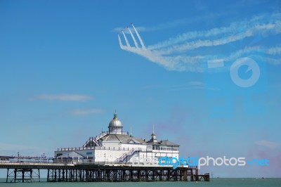
[[(181, 144), (184, 157), (270, 160), (269, 167), (203, 172), (280, 177), (280, 7), (0, 1), (0, 154), (53, 156), (56, 148), (81, 146), (107, 129), (117, 110), (133, 136), (150, 138), (154, 124), (157, 137)], [(230, 70), (246, 58), (259, 77), (245, 88)], [(237, 73), (247, 80), (254, 69)]]

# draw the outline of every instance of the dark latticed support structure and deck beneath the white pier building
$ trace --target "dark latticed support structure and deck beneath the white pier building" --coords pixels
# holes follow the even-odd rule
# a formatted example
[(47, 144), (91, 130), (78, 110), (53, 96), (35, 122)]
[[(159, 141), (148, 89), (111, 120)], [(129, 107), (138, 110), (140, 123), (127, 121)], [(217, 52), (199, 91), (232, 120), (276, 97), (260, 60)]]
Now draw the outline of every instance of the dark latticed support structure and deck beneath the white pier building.
[(133, 165), (95, 165), (84, 163), (0, 162), (7, 169), (6, 182), (39, 182), (46, 170), (48, 182), (124, 182), (124, 181), (209, 181), (209, 174), (198, 174), (196, 167), (136, 167)]

